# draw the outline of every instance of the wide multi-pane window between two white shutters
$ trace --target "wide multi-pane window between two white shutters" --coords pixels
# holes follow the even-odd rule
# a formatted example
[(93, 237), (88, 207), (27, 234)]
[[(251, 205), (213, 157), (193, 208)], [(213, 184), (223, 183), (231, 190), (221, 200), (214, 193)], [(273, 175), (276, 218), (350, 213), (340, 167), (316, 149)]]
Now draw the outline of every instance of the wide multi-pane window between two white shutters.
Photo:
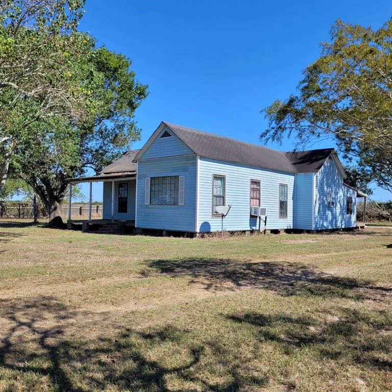
[(179, 176), (151, 177), (150, 204), (155, 206), (178, 206)]

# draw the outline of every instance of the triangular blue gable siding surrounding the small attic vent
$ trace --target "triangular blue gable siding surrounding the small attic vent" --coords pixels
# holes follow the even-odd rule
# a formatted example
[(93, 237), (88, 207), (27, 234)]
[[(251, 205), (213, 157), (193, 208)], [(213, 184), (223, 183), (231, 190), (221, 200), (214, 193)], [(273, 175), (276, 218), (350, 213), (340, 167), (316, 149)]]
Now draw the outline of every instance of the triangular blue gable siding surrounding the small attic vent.
[[(160, 138), (165, 131), (173, 136)], [(187, 154), (193, 154), (192, 150), (167, 127), (164, 127), (139, 159), (174, 157)]]

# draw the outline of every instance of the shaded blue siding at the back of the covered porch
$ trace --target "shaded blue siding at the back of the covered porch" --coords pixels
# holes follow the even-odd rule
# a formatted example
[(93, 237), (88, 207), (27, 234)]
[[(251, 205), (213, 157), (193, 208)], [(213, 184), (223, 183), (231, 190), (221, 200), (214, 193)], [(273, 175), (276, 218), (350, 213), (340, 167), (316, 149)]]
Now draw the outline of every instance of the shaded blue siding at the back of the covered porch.
[[(118, 212), (118, 184), (128, 184), (127, 213)], [(112, 215), (112, 182), (104, 182), (103, 219), (111, 219)], [(114, 182), (114, 219), (135, 220), (136, 180)]]

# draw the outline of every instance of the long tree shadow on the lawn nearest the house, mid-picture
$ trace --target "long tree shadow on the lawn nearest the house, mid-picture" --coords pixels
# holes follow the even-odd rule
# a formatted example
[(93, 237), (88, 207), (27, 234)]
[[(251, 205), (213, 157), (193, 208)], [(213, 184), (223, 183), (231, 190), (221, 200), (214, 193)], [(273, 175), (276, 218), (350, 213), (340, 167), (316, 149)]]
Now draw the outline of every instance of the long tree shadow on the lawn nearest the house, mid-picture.
[(171, 276), (190, 275), (194, 282), (201, 282), (207, 290), (219, 290), (229, 283), (233, 290), (252, 287), (285, 296), (318, 295), (353, 299), (372, 298), (374, 290), (382, 294), (392, 290), (374, 286), (369, 280), (328, 275), (317, 268), (293, 262), (190, 258), (152, 260), (148, 265)]

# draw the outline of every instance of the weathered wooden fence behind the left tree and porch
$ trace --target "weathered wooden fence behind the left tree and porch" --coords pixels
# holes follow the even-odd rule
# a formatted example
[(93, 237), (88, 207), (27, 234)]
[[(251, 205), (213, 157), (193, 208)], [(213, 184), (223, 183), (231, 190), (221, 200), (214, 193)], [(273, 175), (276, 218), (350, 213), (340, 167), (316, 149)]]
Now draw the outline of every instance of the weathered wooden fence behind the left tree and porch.
[[(37, 206), (38, 218), (47, 217), (43, 207)], [(61, 206), (61, 216), (68, 217), (68, 205)], [(71, 204), (71, 216), (88, 216), (87, 204)], [(91, 216), (102, 217), (102, 204), (91, 206)], [(32, 203), (0, 202), (0, 218), (33, 219)]]

